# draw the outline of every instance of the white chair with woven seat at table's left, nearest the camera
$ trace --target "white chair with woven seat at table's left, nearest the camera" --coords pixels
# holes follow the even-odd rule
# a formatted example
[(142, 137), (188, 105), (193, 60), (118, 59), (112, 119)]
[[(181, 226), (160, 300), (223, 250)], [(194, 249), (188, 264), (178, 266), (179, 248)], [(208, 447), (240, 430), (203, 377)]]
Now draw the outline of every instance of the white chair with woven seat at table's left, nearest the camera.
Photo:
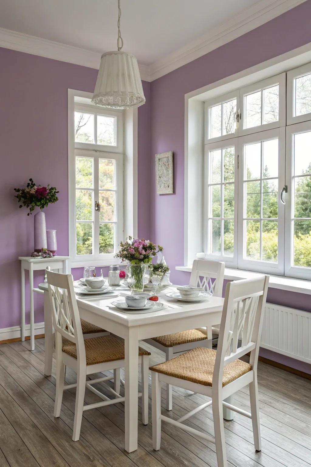
[[(59, 417), (62, 405), (62, 394), (65, 389), (76, 387), (76, 406), (73, 427), (74, 441), (80, 437), (83, 410), (94, 409), (125, 400), (120, 392), (120, 368), (125, 366), (124, 340), (117, 336), (107, 335), (97, 338), (83, 339), (82, 326), (76, 303), (71, 274), (59, 274), (47, 271), (48, 295), (52, 310), (56, 341), (56, 395), (54, 417)], [(148, 362), (150, 353), (139, 347), (138, 362), (142, 366), (142, 413), (143, 423), (148, 424)], [(64, 386), (65, 366), (72, 368), (77, 374), (76, 384)], [(103, 383), (115, 399), (110, 399), (93, 384), (111, 380), (111, 376), (88, 380), (87, 375), (107, 370), (114, 370), (115, 389)], [(85, 388), (101, 397), (103, 402), (83, 405)]]

